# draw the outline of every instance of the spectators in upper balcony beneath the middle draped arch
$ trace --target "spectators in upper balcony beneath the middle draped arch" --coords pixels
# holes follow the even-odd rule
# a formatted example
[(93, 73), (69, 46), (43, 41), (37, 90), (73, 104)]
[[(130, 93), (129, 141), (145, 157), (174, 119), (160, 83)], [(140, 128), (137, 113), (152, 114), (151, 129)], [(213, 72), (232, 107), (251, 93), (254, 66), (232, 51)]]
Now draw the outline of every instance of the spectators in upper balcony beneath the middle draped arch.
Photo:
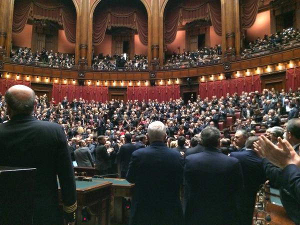
[(148, 68), (148, 58), (143, 54), (135, 54), (132, 59), (124, 54), (93, 57), (92, 67), (97, 70), (144, 70)]

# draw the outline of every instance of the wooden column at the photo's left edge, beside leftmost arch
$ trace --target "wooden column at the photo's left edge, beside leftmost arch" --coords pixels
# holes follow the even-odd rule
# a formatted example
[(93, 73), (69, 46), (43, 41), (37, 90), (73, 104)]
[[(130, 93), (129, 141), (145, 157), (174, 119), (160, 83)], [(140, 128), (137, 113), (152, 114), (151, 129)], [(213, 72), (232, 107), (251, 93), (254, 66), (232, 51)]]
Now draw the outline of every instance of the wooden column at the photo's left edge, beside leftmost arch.
[(0, 56), (9, 56), (13, 0), (0, 0)]

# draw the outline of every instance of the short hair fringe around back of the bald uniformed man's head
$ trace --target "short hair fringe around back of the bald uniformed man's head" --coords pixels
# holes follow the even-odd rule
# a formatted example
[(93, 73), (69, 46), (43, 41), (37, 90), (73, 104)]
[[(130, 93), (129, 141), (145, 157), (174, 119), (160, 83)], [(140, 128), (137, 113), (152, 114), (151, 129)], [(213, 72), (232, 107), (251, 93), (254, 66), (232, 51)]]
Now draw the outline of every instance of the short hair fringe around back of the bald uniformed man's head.
[(8, 89), (5, 93), (5, 101), (11, 110), (16, 114), (32, 114), (35, 102), (35, 93), (32, 90), (31, 96), (28, 96), (26, 100), (19, 100)]

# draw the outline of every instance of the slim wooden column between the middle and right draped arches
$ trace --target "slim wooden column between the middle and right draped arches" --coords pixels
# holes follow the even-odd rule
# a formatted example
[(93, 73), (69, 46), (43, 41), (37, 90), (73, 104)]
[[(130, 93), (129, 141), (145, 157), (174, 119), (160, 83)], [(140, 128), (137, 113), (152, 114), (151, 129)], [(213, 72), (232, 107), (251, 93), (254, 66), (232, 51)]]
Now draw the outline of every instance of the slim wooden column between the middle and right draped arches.
[[(152, 0), (152, 32), (151, 32), (151, 59), (150, 65), (152, 69), (159, 65), (159, 1)], [(149, 38), (149, 37), (148, 37)]]

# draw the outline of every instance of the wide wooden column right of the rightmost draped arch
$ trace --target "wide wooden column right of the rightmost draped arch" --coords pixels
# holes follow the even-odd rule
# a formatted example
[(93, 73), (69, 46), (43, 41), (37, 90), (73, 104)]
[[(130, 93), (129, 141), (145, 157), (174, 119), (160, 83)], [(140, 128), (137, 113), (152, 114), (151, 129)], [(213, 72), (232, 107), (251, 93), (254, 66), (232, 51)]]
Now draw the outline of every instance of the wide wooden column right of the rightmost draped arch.
[(232, 56), (240, 49), (238, 0), (221, 0), (222, 48), (224, 55)]

